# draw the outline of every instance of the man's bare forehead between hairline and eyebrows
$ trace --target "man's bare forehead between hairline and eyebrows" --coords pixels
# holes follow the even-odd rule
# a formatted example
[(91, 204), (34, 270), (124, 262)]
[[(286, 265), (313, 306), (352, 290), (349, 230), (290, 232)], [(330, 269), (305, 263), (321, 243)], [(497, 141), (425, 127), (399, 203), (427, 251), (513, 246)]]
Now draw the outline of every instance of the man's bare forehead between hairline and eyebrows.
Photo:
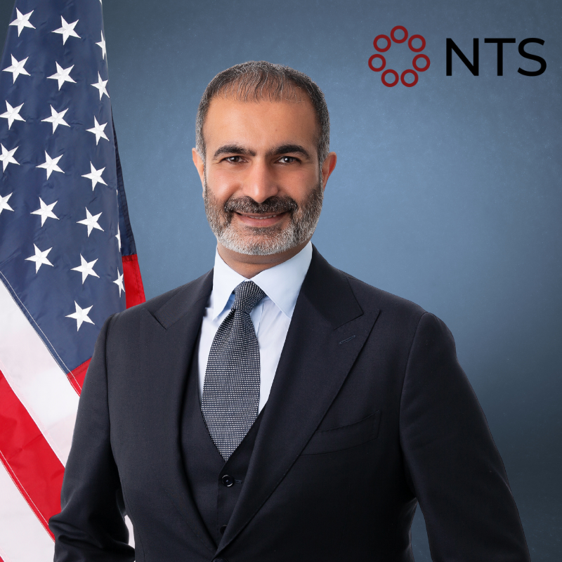
[(269, 149), (273, 145), (315, 145), (318, 124), (313, 105), (301, 99), (240, 101), (216, 96), (209, 104), (203, 135), (207, 149), (226, 143)]

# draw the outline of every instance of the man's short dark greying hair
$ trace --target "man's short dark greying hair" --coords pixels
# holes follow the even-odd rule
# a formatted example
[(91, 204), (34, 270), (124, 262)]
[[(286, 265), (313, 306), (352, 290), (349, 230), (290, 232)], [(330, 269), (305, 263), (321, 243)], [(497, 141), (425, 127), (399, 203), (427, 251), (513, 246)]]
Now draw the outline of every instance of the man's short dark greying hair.
[(324, 94), (313, 80), (303, 72), (288, 66), (274, 65), (265, 60), (249, 60), (219, 72), (209, 82), (197, 109), (195, 121), (196, 148), (205, 159), (203, 125), (211, 100), (219, 94), (240, 101), (299, 101), (300, 92), (306, 93), (313, 105), (318, 122), (318, 159), (320, 166), (329, 152), (329, 113)]

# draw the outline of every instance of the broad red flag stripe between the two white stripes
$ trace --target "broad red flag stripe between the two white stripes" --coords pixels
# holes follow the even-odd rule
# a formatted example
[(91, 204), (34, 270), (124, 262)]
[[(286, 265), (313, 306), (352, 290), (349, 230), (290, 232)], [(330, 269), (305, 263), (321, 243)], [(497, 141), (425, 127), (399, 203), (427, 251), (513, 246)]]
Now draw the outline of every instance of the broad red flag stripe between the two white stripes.
[[(41, 525), (60, 511), (65, 468), (0, 371), (0, 461)], [(54, 537), (53, 537), (54, 538)]]

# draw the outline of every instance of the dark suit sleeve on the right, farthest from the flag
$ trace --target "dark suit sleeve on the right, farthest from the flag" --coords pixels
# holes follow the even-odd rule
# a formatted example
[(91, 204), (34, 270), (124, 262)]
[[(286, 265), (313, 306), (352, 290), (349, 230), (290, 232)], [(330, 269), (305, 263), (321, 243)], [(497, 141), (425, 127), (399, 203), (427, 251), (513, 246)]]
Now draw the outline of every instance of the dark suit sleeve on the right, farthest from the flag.
[(445, 324), (425, 313), (407, 362), (400, 440), (436, 562), (528, 562), (501, 457)]

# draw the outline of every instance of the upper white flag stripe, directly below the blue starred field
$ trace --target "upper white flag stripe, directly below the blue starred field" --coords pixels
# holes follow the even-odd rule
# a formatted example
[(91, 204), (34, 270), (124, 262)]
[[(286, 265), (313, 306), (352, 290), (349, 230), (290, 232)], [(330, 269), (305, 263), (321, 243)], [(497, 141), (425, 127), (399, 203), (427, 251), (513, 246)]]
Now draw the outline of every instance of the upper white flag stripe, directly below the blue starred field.
[(41, 433), (66, 464), (78, 395), (0, 281), (0, 370)]

